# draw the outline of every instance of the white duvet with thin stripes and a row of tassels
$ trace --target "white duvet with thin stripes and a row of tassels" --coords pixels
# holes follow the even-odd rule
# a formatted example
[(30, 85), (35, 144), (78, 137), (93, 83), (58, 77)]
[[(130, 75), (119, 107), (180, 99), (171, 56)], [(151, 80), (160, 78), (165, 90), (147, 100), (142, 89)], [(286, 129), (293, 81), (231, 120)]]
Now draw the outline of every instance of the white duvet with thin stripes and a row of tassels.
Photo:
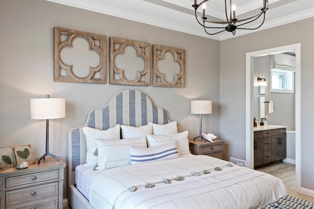
[(91, 183), (89, 202), (95, 209), (256, 209), (287, 194), (280, 179), (227, 163), (187, 155), (106, 169)]

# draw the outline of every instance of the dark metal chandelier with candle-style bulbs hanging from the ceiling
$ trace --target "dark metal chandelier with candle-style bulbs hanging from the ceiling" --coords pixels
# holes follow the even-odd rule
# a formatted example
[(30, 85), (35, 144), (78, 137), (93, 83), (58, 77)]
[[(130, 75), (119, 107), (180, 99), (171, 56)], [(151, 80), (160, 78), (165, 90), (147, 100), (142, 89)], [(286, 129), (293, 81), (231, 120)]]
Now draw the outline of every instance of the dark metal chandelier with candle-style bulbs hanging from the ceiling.
[[(192, 7), (194, 7), (195, 10), (195, 17), (197, 22), (204, 27), (204, 30), (207, 34), (209, 35), (215, 35), (217, 33), (221, 33), (223, 31), (228, 31), (228, 32), (232, 32), (233, 35), (235, 35), (235, 30), (236, 29), (246, 29), (246, 30), (255, 30), (259, 27), (261, 27), (265, 21), (265, 13), (266, 10), (268, 9), (268, 0), (263, 0), (263, 7), (261, 9), (261, 12), (258, 12), (257, 14), (250, 16), (250, 17), (246, 17), (246, 18), (242, 18), (242, 19), (237, 19), (235, 17), (235, 4), (232, 4), (232, 0), (230, 0), (230, 4), (228, 6), (228, 8), (230, 9), (229, 11), (229, 15), (228, 15), (228, 11), (227, 11), (227, 0), (225, 0), (225, 15), (226, 15), (226, 21), (215, 21), (215, 20), (209, 20), (206, 17), (205, 14), (205, 9), (206, 9), (206, 2), (209, 0), (203, 0), (202, 2), (200, 2), (199, 4), (197, 3), (197, 0), (194, 0), (194, 4), (192, 5)], [(203, 16), (199, 16), (198, 15), (198, 8), (200, 8), (202, 6), (203, 8), (203, 12), (201, 12), (201, 14), (203, 14)], [(244, 25), (248, 24), (248, 23), (252, 23), (254, 21), (256, 21), (257, 19), (259, 19), (261, 16), (263, 16), (263, 21), (261, 23), (261, 25), (259, 25), (258, 27), (255, 28), (247, 28)], [(207, 25), (206, 25), (207, 24)], [(217, 27), (212, 27), (212, 26), (208, 26), (209, 24), (222, 24), (224, 26), (217, 26)], [(208, 32), (209, 29), (222, 29), (221, 31), (218, 32), (214, 32), (214, 33), (210, 33)]]

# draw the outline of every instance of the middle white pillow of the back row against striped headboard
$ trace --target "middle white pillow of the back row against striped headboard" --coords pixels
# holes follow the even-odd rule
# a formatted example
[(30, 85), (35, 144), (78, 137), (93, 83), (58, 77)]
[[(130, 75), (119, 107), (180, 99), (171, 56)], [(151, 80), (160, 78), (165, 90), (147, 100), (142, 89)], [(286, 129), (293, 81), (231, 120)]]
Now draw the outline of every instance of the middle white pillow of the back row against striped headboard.
[(121, 130), (122, 130), (122, 138), (129, 139), (129, 138), (135, 138), (139, 136), (146, 136), (147, 134), (153, 134), (153, 125), (148, 124), (148, 125), (140, 126), (140, 127), (121, 125)]

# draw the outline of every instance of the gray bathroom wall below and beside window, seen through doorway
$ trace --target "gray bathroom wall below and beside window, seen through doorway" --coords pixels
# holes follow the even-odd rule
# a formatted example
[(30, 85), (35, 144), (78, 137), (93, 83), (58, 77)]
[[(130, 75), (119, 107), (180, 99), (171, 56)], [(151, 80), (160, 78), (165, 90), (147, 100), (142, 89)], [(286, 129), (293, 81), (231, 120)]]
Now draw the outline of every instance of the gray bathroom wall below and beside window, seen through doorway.
[[(287, 131), (295, 130), (295, 94), (270, 92), (270, 55), (254, 58), (254, 82), (257, 78), (265, 78), (265, 95), (259, 94), (259, 87), (254, 87), (254, 117), (260, 119), (260, 96), (265, 96), (265, 101), (273, 101), (274, 112), (267, 113), (265, 107), (265, 117), (267, 124), (287, 126)], [(259, 124), (259, 123), (258, 123)]]

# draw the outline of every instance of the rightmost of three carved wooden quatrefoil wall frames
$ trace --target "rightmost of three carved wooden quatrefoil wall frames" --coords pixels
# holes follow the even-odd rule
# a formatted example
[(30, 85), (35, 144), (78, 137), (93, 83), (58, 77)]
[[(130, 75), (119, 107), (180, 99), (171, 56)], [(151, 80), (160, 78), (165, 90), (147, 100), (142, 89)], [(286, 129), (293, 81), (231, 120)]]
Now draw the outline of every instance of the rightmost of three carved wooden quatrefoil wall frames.
[[(165, 52), (171, 52), (174, 55), (174, 61), (180, 64), (180, 73), (174, 75), (172, 82), (167, 82), (165, 80), (165, 75), (160, 73), (157, 69), (157, 62), (164, 59)], [(153, 45), (153, 86), (163, 86), (163, 87), (185, 87), (185, 50)]]

